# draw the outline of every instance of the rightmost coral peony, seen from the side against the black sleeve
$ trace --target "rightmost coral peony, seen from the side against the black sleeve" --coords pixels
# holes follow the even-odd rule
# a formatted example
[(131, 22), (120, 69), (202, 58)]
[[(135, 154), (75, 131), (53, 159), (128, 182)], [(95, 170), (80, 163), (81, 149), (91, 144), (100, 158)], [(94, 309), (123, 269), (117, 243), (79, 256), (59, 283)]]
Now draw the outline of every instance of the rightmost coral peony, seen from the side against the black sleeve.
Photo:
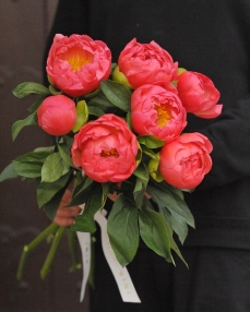
[(186, 71), (178, 76), (177, 89), (188, 112), (201, 118), (221, 115), (223, 105), (217, 105), (221, 94), (207, 76)]

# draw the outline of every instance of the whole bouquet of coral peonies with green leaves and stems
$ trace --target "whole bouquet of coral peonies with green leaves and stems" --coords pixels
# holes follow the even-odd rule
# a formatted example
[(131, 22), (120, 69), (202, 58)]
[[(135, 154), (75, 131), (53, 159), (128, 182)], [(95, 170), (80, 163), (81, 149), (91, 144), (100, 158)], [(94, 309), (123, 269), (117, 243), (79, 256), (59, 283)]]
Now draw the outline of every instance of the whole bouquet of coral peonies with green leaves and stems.
[[(13, 124), (12, 135), (14, 140), (24, 127), (38, 124), (53, 136), (53, 145), (17, 157), (0, 180), (35, 179), (38, 206), (51, 220), (73, 184), (69, 206), (85, 206), (71, 237), (95, 232), (95, 214), (116, 193), (107, 231), (120, 265), (133, 260), (140, 237), (166, 261), (175, 263), (175, 251), (184, 262), (174, 240), (176, 233), (183, 243), (188, 226), (194, 227), (183, 191), (193, 191), (212, 167), (209, 139), (184, 133), (187, 113), (221, 113), (213, 82), (178, 68), (155, 41), (132, 39), (116, 64), (107, 45), (86, 35), (57, 34), (46, 70), (49, 87), (27, 82), (13, 91), (19, 98), (35, 94), (37, 99), (29, 116)], [(28, 252), (52, 232), (45, 277), (63, 230), (52, 223), (26, 247), (19, 278)]]

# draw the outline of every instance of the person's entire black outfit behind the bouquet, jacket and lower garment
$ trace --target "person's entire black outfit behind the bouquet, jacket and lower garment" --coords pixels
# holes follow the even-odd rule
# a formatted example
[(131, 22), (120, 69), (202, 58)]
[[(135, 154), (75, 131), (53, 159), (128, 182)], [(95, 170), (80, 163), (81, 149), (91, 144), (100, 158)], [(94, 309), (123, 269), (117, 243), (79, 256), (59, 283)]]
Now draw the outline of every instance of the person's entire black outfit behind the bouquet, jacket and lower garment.
[[(187, 262), (190, 261), (190, 271), (182, 264), (172, 268), (162, 259), (156, 260), (158, 256), (153, 256), (151, 251), (140, 250), (129, 268), (140, 267), (131, 275), (135, 286), (143, 287), (139, 295), (144, 297), (145, 304), (140, 308), (135, 304), (134, 309), (141, 310), (132, 310), (130, 305), (134, 304), (130, 304), (123, 310), (117, 305), (114, 310), (109, 307), (93, 311), (250, 311), (247, 286), (240, 283), (245, 279), (242, 272), (246, 279), (250, 279), (247, 276), (250, 254), (250, 1), (60, 0), (49, 46), (55, 33), (87, 34), (104, 40), (111, 49), (112, 62), (133, 37), (140, 43), (155, 40), (180, 67), (211, 77), (221, 92), (219, 103), (224, 104), (219, 118), (188, 117), (186, 131), (204, 133), (214, 146), (212, 171), (194, 193), (186, 196), (197, 224), (197, 229), (190, 230), (184, 242), (183, 253)], [(241, 253), (245, 254), (242, 260)], [(160, 264), (155, 265), (155, 262)], [(240, 262), (238, 268), (230, 271), (230, 264), (234, 269), (237, 262)], [(160, 272), (165, 272), (166, 279)], [(234, 283), (234, 276), (238, 281)], [(201, 280), (197, 281), (199, 278)], [(154, 279), (158, 280), (159, 290), (152, 286)], [(107, 287), (103, 286), (103, 291), (109, 291)], [(179, 296), (176, 303), (169, 303), (169, 298), (162, 296), (160, 289), (166, 293), (171, 289), (171, 298)], [(178, 289), (183, 293), (177, 292)], [(154, 300), (155, 291), (157, 298)], [(103, 301), (100, 298), (97, 301), (102, 304), (111, 297), (115, 302), (119, 297), (118, 291), (116, 293), (115, 289), (110, 290), (110, 296), (104, 298), (106, 295), (98, 292), (97, 296), (103, 295)], [(194, 305), (182, 299), (184, 293)], [(239, 301), (241, 308), (237, 308)], [(169, 309), (163, 308), (167, 304), (170, 304)]]

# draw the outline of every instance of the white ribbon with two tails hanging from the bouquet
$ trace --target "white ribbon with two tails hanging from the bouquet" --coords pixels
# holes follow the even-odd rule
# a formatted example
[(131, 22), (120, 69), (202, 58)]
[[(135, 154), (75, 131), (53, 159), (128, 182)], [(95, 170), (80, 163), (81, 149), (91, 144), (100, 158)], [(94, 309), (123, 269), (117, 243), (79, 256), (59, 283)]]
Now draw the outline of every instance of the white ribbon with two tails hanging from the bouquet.
[[(141, 300), (136, 293), (128, 269), (119, 264), (110, 245), (107, 233), (107, 219), (105, 218), (105, 215), (106, 212), (103, 209), (103, 212), (98, 211), (94, 217), (100, 227), (104, 255), (116, 279), (122, 300), (124, 302), (140, 303)], [(80, 297), (80, 301), (83, 301), (91, 268), (91, 235), (86, 232), (78, 232), (78, 238), (83, 259), (83, 280)]]

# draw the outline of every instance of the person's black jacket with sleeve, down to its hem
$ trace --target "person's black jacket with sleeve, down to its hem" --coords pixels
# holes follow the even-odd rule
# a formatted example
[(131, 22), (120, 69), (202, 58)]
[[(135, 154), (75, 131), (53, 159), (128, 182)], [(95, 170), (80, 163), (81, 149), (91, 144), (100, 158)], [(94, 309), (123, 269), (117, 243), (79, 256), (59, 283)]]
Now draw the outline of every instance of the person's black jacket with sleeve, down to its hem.
[(133, 37), (155, 40), (180, 67), (213, 80), (222, 117), (189, 116), (186, 129), (214, 145), (212, 171), (187, 196), (197, 229), (186, 243), (250, 248), (250, 1), (60, 0), (48, 47), (56, 33), (104, 40), (114, 62)]

